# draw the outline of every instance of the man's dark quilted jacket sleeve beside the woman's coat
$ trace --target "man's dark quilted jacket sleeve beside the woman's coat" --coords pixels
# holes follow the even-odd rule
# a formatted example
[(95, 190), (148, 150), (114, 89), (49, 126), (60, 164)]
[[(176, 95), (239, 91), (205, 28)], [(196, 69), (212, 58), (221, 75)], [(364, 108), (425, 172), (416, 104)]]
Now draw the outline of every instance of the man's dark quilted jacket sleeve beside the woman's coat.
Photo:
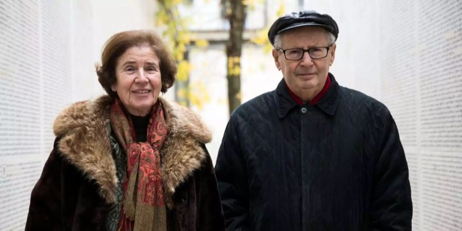
[(227, 230), (247, 230), (250, 222), (246, 165), (237, 117), (234, 114), (229, 119), (215, 166)]

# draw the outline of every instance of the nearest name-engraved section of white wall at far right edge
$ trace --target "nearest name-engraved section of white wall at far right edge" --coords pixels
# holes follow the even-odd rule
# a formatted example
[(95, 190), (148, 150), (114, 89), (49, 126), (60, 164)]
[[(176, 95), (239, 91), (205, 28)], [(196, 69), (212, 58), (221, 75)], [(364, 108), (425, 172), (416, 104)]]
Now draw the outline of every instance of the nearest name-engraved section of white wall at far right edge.
[(462, 2), (379, 4), (382, 102), (410, 168), (414, 230), (462, 230)]

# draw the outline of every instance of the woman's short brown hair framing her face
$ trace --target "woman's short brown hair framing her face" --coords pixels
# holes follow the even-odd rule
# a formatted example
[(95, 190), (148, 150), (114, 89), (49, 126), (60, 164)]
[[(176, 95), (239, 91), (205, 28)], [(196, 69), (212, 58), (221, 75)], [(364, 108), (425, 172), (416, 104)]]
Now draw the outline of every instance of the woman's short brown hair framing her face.
[(126, 50), (137, 46), (149, 46), (159, 57), (161, 91), (165, 93), (174, 84), (177, 64), (161, 38), (151, 30), (123, 31), (109, 38), (101, 54), (101, 65), (96, 65), (98, 81), (111, 98), (117, 97), (117, 93), (111, 89), (111, 86), (117, 82), (115, 77), (117, 60)]

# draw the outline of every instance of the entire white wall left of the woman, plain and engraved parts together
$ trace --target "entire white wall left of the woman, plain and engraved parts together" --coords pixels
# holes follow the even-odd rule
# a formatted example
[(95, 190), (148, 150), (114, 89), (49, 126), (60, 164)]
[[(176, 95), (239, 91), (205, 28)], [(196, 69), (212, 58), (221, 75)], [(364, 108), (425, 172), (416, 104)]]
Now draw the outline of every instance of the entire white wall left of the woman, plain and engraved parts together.
[(24, 230), (30, 192), (53, 147), (54, 118), (104, 92), (94, 63), (105, 40), (152, 28), (153, 4), (0, 1), (0, 230)]

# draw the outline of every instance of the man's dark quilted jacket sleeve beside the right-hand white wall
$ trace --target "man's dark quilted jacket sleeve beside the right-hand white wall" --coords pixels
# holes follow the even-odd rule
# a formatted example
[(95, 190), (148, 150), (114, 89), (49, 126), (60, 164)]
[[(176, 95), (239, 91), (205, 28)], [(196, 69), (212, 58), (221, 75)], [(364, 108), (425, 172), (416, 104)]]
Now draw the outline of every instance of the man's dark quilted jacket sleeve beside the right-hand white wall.
[(408, 164), (390, 112), (382, 122), (380, 155), (373, 175), (370, 230), (411, 230)]

